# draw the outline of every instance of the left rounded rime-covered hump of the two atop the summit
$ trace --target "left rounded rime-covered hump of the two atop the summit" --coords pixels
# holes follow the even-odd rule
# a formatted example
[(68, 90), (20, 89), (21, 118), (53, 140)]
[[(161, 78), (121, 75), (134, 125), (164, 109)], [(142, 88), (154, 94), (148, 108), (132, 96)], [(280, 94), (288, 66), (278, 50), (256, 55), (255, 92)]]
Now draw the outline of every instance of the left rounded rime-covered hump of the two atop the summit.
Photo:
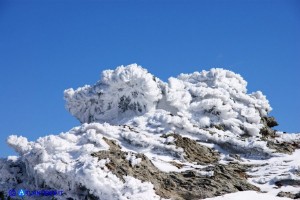
[(132, 64), (105, 70), (94, 86), (67, 89), (66, 107), (80, 122), (115, 122), (143, 114), (161, 98), (156, 78), (146, 69)]

